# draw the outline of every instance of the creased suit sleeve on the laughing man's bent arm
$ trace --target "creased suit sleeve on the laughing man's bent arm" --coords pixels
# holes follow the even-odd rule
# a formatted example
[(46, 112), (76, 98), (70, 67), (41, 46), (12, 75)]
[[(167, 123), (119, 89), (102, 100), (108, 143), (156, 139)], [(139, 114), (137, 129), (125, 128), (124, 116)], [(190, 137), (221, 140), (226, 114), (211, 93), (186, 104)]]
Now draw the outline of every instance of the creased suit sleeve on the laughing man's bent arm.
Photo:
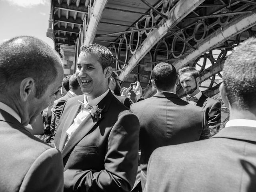
[[(64, 191), (128, 192), (138, 168), (139, 121), (120, 115), (108, 137), (103, 170), (66, 170)], [(86, 162), (85, 162), (86, 163)]]

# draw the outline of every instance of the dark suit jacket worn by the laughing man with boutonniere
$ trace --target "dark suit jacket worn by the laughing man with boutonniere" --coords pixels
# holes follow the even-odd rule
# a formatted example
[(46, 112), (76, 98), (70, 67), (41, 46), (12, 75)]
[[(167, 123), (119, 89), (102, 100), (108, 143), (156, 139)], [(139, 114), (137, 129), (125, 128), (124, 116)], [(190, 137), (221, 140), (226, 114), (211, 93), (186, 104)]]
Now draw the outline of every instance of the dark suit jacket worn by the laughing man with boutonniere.
[(138, 166), (138, 118), (109, 91), (98, 103), (102, 118), (94, 122), (89, 114), (65, 145), (66, 130), (80, 110), (77, 100), (84, 95), (67, 100), (55, 136), (64, 162), (64, 191), (130, 191)]

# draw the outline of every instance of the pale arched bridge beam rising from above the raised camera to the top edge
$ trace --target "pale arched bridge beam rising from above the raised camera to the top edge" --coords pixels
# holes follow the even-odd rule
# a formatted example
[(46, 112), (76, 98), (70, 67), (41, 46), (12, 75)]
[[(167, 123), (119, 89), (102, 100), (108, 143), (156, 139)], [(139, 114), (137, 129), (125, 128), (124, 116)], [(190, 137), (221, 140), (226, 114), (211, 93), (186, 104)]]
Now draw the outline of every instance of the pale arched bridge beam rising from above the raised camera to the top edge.
[(152, 30), (147, 38), (142, 42), (139, 50), (130, 58), (128, 66), (120, 74), (120, 79), (124, 80), (133, 68), (140, 62), (140, 60), (150, 51), (153, 46), (161, 40), (164, 35), (168, 33), (176, 24), (185, 18), (190, 12), (196, 9), (204, 0), (180, 0), (170, 10), (169, 19), (159, 26), (159, 28)]

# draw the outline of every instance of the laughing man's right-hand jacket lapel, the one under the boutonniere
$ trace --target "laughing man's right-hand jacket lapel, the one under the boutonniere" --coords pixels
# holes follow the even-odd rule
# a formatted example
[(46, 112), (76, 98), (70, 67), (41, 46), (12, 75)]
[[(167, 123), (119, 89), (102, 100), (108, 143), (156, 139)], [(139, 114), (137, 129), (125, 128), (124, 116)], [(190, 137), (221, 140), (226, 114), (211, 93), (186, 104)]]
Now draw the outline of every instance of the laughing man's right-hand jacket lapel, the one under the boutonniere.
[[(110, 103), (113, 97), (114, 96), (109, 91), (108, 94), (98, 103), (98, 108), (103, 109), (102, 117), (100, 118), (100, 120), (98, 120), (97, 122), (94, 122), (92, 116), (88, 114), (88, 116), (84, 119), (84, 121), (78, 126), (74, 134), (72, 134), (72, 136), (68, 140), (66, 146), (63, 145), (64, 146), (62, 150), (63, 158), (76, 146), (76, 144), (78, 144), (78, 142), (80, 142), (80, 140), (82, 140), (82, 138), (84, 138), (84, 136), (88, 134), (88, 132), (90, 132), (90, 130), (92, 130), (92, 128), (94, 128), (94, 126), (98, 126), (98, 124), (104, 118), (104, 115), (108, 111), (108, 108), (110, 106)], [(72, 122), (75, 117), (76, 116), (72, 118)], [(66, 134), (66, 131), (65, 131), (65, 134)], [(65, 140), (66, 140), (66, 137), (65, 137)]]

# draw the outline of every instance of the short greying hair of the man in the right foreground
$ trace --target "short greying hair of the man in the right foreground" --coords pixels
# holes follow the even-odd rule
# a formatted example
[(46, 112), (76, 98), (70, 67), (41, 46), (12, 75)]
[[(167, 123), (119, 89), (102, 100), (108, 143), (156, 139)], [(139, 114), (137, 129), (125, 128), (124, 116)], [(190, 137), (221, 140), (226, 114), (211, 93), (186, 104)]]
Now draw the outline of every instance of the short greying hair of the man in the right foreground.
[(256, 38), (249, 38), (228, 56), (223, 68), (224, 89), (230, 105), (256, 108)]

